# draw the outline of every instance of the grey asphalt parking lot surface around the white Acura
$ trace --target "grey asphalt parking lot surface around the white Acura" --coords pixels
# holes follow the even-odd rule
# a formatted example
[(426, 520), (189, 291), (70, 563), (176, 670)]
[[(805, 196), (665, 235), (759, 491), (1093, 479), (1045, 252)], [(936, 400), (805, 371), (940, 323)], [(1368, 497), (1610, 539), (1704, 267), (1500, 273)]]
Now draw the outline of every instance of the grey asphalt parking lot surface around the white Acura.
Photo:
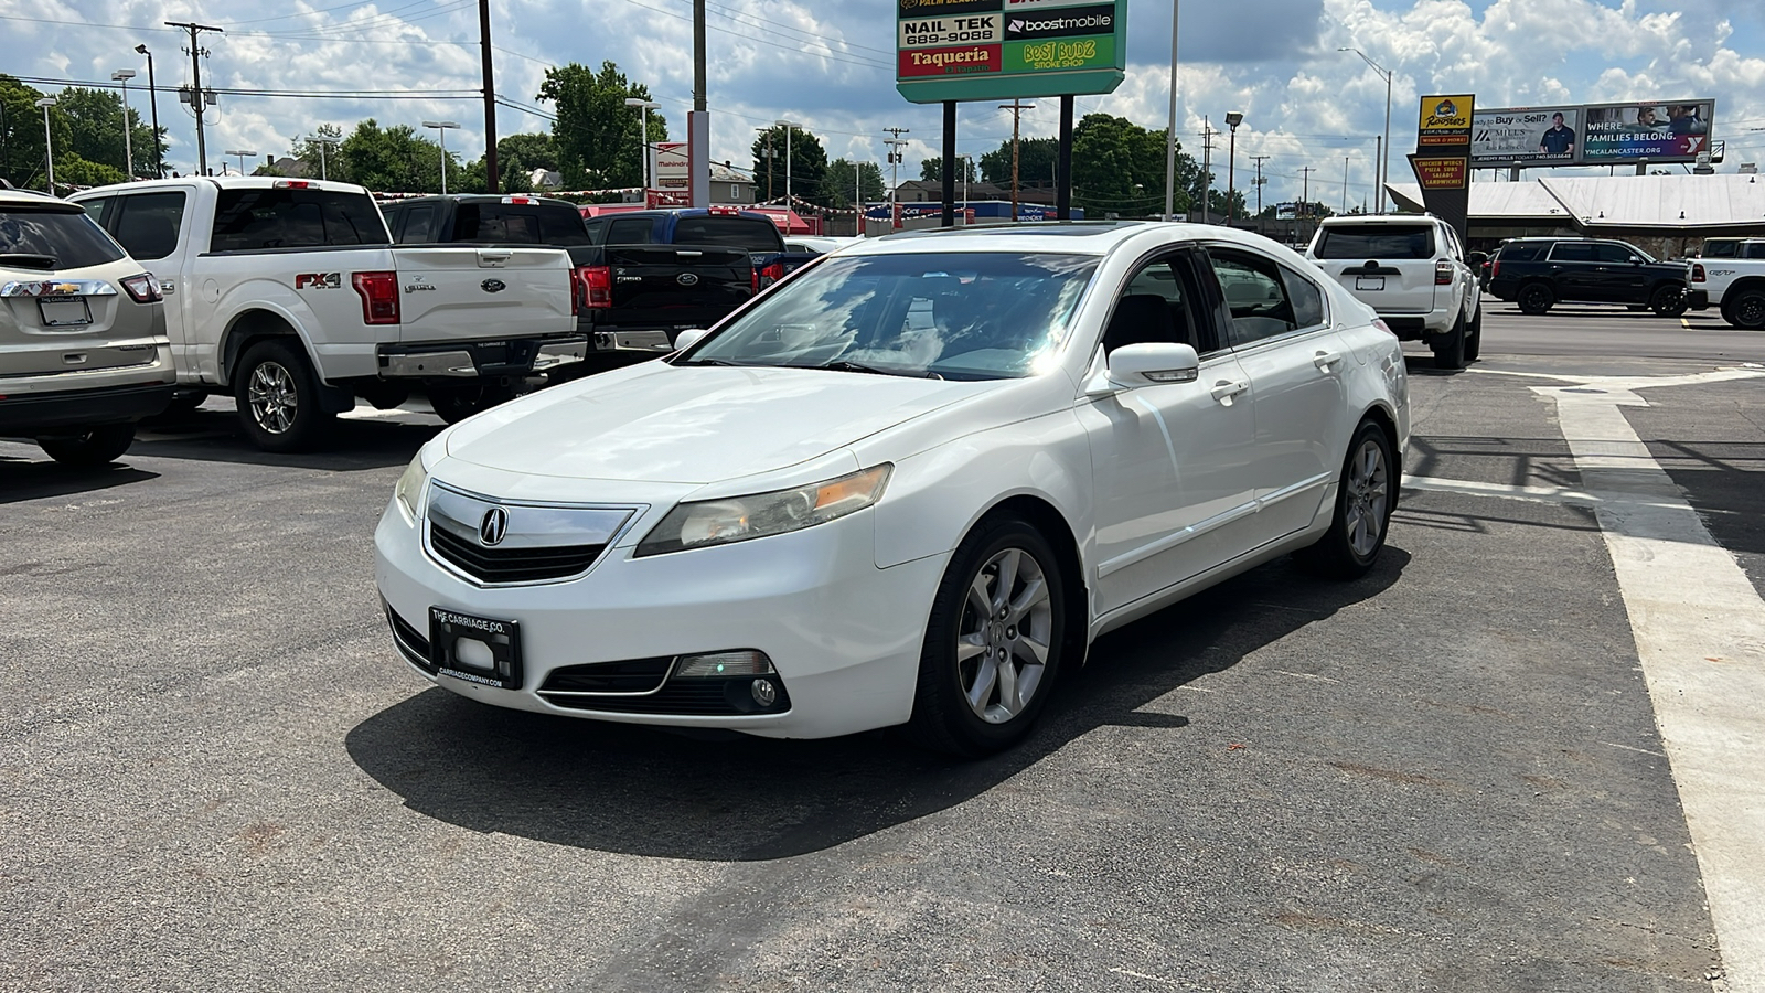
[[(980, 763), (431, 687), (371, 548), (420, 406), (265, 456), (210, 401), (86, 475), (0, 442), (0, 988), (1709, 989), (1698, 793), (1534, 389), (1765, 362), (1703, 323), (1502, 307), (1472, 371), (1412, 352), (1444, 484), (1370, 576), (1119, 631)], [(1761, 389), (1619, 410), (1765, 595)]]

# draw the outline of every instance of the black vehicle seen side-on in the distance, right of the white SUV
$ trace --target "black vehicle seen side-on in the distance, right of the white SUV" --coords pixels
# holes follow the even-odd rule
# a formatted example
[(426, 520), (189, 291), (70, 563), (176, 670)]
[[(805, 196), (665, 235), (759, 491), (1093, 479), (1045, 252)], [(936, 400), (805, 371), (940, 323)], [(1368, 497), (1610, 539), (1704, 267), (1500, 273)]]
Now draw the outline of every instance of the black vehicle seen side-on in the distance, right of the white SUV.
[(1557, 304), (1626, 304), (1677, 318), (1710, 306), (1707, 292), (1691, 288), (1691, 263), (1596, 239), (1506, 240), (1490, 260), (1488, 292), (1528, 315)]

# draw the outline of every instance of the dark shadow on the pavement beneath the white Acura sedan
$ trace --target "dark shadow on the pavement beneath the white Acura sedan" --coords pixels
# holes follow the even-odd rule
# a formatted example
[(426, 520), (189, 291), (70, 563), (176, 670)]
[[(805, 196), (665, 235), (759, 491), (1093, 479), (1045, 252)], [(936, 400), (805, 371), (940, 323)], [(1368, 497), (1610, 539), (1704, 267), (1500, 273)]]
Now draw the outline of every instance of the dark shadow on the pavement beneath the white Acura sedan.
[(1408, 560), (1387, 548), (1368, 576), (1331, 583), (1283, 558), (1112, 633), (1061, 678), (1031, 739), (983, 762), (888, 731), (706, 740), (501, 710), (445, 689), (374, 714), (346, 747), (408, 807), (469, 830), (665, 859), (785, 859), (962, 804), (1096, 728), (1181, 733), (1188, 717), (1149, 705), (1377, 597)]

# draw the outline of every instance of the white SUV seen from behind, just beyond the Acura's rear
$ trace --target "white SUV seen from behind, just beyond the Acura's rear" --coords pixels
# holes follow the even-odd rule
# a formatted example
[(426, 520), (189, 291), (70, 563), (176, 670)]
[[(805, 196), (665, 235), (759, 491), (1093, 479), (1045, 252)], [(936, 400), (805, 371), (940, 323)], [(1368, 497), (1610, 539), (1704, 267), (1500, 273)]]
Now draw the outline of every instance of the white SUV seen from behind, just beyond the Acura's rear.
[(1426, 341), (1442, 369), (1483, 350), (1483, 286), (1458, 231), (1428, 214), (1326, 217), (1306, 258), (1378, 311), (1405, 341)]

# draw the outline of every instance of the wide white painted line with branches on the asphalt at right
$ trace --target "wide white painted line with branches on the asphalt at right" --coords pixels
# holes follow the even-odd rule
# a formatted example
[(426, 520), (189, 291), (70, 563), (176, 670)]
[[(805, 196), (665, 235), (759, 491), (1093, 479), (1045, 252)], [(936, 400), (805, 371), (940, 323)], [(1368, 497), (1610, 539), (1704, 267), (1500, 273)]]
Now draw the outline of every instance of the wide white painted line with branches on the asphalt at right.
[[(1730, 989), (1765, 989), (1765, 601), (1620, 406), (1647, 406), (1638, 389), (1761, 375), (1543, 376), (1574, 385), (1532, 387), (1557, 401), (1585, 495), (1597, 496)], [(1416, 488), (1521, 498), (1551, 489), (1428, 482)], [(1438, 486), (1447, 482), (1456, 489)]]

